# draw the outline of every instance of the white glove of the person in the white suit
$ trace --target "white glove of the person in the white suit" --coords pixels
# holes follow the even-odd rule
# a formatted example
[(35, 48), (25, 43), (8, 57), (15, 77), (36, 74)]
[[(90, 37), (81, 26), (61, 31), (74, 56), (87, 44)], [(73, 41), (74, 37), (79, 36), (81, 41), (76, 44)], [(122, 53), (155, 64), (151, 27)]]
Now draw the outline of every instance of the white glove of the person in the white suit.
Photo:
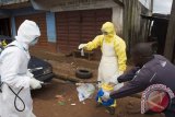
[(43, 82), (36, 80), (35, 78), (30, 79), (30, 86), (31, 86), (32, 90), (40, 89), (42, 87), (42, 83)]

